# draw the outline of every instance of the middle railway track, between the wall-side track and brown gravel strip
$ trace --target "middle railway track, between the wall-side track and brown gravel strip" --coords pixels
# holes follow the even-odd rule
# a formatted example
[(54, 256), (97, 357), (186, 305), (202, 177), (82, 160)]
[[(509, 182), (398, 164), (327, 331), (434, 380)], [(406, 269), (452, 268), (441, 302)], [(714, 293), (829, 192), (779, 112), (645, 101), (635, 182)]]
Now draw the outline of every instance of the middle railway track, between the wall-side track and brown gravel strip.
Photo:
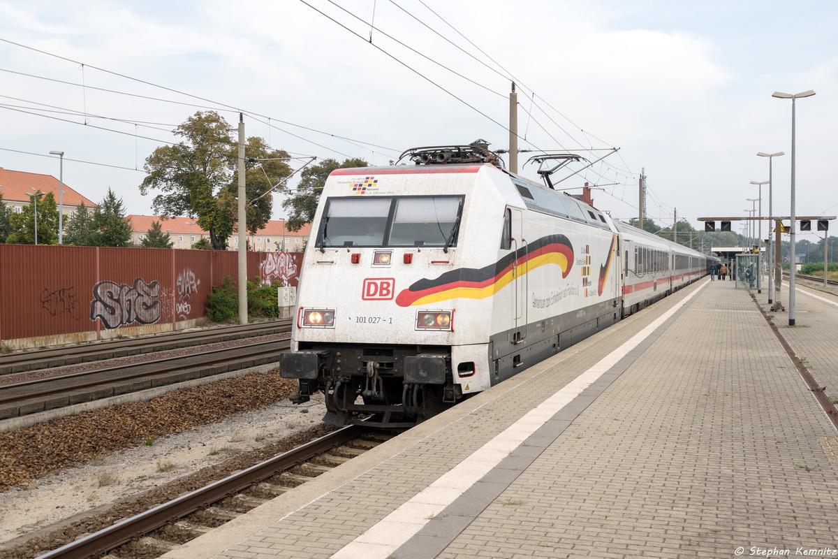
[(288, 339), (261, 341), (3, 384), (0, 419), (271, 364), (289, 344)]

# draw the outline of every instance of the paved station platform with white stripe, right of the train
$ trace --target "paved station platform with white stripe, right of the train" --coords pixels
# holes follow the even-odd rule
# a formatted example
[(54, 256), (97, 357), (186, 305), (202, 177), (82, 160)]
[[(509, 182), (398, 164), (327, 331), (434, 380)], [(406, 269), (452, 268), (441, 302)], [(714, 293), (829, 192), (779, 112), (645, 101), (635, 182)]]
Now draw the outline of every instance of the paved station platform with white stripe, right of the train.
[(838, 297), (806, 292), (789, 328), (706, 277), (164, 557), (838, 556), (800, 375), (838, 398)]

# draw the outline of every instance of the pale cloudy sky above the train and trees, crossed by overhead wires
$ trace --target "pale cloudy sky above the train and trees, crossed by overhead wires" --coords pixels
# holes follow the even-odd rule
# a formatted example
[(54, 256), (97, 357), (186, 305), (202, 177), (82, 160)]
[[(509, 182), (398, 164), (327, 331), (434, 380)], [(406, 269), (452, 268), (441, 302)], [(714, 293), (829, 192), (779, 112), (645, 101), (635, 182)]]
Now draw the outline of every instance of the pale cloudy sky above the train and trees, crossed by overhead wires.
[[(515, 81), (520, 149), (619, 148), (560, 188), (587, 182), (598, 209), (629, 219), (644, 173), (647, 217), (701, 230), (696, 218), (758, 208), (758, 152), (785, 153), (771, 190), (789, 215), (792, 103), (772, 93), (814, 90), (796, 101), (796, 214), (838, 215), (832, 0), (0, 0), (0, 13), (0, 167), (58, 177), (49, 152), (64, 151), (66, 184), (97, 203), (113, 189), (129, 214), (153, 215), (145, 159), (196, 111), (234, 128), (241, 111), (292, 168), (388, 165), (420, 146), (509, 148)], [(523, 164), (535, 152), (520, 173), (540, 181)]]

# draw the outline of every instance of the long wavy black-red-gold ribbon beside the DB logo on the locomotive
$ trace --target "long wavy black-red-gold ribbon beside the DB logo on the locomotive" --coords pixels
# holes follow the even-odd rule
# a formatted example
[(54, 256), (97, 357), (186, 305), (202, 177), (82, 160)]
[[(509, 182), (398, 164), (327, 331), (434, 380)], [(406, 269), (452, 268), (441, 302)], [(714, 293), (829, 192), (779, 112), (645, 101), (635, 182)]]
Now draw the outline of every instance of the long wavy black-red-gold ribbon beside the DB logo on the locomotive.
[(454, 298), (484, 299), (493, 296), (514, 279), (513, 263), (518, 275), (546, 264), (561, 268), (562, 279), (573, 266), (573, 246), (564, 235), (541, 237), (487, 267), (460, 268), (445, 272), (437, 279), (421, 279), (396, 296), (400, 307), (427, 305)]

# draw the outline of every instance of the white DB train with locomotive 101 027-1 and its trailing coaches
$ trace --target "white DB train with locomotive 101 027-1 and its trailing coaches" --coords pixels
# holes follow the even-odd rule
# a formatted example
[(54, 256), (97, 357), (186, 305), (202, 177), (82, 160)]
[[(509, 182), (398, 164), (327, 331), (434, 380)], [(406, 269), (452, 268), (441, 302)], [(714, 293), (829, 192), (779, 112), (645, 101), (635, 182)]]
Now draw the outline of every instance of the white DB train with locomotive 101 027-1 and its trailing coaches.
[[(406, 154), (331, 173), (306, 246), (280, 369), (337, 425), (415, 425), (634, 310), (625, 239), (649, 244), (634, 228), (504, 171), (486, 144)], [(689, 251), (662, 246), (670, 269)]]

